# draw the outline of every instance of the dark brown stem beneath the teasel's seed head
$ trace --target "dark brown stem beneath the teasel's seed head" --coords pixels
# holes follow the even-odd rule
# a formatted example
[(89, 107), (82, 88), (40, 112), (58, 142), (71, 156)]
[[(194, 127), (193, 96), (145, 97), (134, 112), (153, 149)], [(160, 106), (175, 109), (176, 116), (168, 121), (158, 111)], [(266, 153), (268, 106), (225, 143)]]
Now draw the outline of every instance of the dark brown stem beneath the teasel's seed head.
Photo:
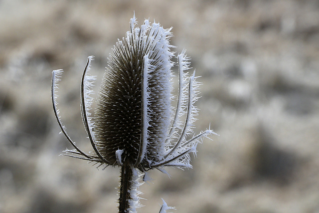
[(133, 171), (130, 165), (124, 164), (121, 168), (121, 182), (120, 182), (120, 199), (119, 199), (119, 213), (128, 213), (130, 201), (132, 200), (132, 178)]

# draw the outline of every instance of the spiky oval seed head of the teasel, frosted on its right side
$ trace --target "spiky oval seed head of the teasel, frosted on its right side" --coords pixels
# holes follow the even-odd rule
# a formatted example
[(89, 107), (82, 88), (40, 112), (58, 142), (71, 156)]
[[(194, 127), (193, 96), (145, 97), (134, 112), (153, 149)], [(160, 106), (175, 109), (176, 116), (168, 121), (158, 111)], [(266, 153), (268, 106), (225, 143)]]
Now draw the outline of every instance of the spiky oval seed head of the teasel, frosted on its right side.
[(116, 150), (123, 150), (122, 162), (150, 169), (150, 162), (162, 160), (170, 120), (172, 52), (171, 36), (158, 23), (134, 28), (119, 40), (109, 57), (95, 112), (95, 136), (102, 156), (117, 164)]

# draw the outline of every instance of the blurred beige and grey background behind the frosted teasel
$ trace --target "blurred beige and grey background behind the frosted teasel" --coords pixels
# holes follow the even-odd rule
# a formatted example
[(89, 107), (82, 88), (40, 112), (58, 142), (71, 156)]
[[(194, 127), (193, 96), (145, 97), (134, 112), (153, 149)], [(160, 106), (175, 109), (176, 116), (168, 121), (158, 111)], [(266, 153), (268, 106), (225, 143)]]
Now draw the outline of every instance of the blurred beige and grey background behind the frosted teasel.
[(138, 25), (173, 26), (174, 51), (202, 76), (196, 132), (220, 135), (193, 169), (151, 171), (139, 212), (159, 212), (161, 198), (174, 213), (319, 212), (318, 0), (0, 0), (0, 212), (117, 212), (118, 168), (59, 156), (71, 146), (51, 72), (65, 70), (60, 115), (88, 152), (81, 74), (95, 55), (102, 78), (134, 11)]

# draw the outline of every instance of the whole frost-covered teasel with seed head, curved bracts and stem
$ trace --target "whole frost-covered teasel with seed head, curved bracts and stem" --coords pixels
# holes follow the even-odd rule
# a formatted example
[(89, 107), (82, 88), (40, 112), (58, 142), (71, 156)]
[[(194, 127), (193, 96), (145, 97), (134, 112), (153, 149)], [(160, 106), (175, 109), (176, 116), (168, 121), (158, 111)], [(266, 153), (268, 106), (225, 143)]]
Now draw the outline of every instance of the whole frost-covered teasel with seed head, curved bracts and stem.
[[(88, 57), (81, 79), (82, 120), (93, 147), (88, 154), (77, 147), (62, 125), (56, 92), (63, 70), (52, 74), (54, 113), (62, 133), (74, 147), (65, 150), (64, 155), (121, 168), (120, 213), (136, 212), (141, 206), (138, 188), (146, 181), (147, 171), (166, 173), (164, 167), (191, 168), (190, 153), (196, 155), (198, 143), (216, 134), (210, 127), (197, 135), (193, 133), (200, 83), (195, 71), (188, 73), (190, 62), (185, 50), (177, 55), (178, 88), (177, 95), (172, 95), (174, 52), (170, 48), (175, 47), (169, 44), (171, 28), (150, 24), (149, 20), (141, 27), (135, 27), (136, 23), (134, 16), (126, 36), (112, 49), (93, 116), (96, 77), (88, 73), (93, 56)], [(169, 209), (165, 202), (161, 212), (164, 209)]]

